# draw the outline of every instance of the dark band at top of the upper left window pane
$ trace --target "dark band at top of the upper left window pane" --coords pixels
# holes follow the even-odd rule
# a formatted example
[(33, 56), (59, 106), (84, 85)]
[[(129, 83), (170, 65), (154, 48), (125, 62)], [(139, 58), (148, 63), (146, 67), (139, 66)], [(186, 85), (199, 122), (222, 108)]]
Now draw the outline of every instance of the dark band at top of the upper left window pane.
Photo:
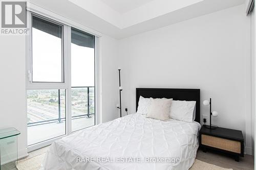
[(37, 18), (35, 16), (33, 16), (32, 27), (37, 30), (56, 36), (58, 38), (62, 37), (61, 26), (48, 22), (46, 20)]

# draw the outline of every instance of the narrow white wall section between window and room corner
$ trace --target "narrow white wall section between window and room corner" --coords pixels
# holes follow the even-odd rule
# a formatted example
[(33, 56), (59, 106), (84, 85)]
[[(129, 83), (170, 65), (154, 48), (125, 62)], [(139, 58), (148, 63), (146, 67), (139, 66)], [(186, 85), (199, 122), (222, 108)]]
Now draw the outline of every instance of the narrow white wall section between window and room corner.
[(116, 108), (119, 103), (117, 40), (109, 36), (100, 38), (100, 67), (100, 122), (104, 123), (120, 116)]

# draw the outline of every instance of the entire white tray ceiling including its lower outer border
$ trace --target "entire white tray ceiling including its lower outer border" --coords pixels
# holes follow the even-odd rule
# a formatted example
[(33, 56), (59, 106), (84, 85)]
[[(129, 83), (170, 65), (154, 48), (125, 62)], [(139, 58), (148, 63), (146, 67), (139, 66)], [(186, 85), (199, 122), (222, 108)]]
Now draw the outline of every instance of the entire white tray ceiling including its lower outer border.
[[(103, 1), (108, 3), (120, 1), (124, 4), (114, 3), (115, 7), (110, 7)], [(91, 30), (121, 39), (241, 5), (245, 0), (29, 0), (29, 2)], [(125, 11), (121, 7), (124, 5), (129, 6), (126, 11), (131, 8), (132, 10), (120, 13), (113, 9)]]

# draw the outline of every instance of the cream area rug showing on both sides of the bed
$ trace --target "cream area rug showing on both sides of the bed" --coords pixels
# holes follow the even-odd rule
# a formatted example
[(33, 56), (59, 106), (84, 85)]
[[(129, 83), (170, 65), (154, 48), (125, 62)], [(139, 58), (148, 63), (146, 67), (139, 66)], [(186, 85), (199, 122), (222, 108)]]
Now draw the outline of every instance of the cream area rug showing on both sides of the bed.
[[(41, 163), (44, 160), (45, 153), (18, 161), (18, 170), (38, 170), (40, 169)], [(227, 170), (226, 168), (219, 167), (213, 164), (209, 164), (200, 160), (195, 160), (195, 163), (189, 170)], [(229, 169), (232, 170), (232, 169)]]

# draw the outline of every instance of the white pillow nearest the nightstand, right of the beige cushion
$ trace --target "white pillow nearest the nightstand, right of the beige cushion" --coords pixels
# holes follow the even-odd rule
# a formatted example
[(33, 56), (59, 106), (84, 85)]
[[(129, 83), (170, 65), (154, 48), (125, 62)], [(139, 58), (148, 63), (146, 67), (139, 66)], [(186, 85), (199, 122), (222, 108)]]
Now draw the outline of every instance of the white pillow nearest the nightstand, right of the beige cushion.
[(173, 119), (191, 123), (196, 116), (196, 112), (194, 112), (195, 105), (196, 101), (173, 101), (170, 105), (169, 116)]

